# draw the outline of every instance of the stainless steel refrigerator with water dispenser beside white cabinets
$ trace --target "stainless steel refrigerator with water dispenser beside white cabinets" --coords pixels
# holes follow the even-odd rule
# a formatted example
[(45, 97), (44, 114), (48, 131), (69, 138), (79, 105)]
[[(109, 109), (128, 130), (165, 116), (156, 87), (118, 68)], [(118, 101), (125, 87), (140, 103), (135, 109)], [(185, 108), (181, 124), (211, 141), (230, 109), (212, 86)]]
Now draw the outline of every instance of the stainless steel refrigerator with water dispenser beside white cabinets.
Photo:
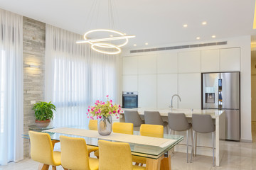
[(202, 108), (225, 110), (225, 140), (240, 140), (240, 72), (202, 74)]

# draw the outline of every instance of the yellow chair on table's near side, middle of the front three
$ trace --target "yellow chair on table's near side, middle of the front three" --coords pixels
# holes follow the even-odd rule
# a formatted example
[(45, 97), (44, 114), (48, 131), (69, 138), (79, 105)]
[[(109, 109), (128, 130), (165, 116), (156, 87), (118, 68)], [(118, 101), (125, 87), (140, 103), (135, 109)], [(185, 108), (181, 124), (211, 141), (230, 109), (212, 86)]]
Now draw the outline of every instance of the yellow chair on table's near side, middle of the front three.
[(65, 169), (97, 170), (99, 159), (88, 157), (85, 139), (60, 136), (61, 164)]

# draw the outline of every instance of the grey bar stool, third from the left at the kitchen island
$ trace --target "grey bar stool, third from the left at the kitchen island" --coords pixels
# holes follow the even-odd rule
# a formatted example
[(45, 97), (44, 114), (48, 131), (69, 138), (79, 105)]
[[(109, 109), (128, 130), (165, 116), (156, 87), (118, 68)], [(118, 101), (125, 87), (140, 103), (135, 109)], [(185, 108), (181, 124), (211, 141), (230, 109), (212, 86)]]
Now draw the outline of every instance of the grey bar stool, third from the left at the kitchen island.
[[(186, 115), (184, 113), (168, 113), (168, 125), (171, 130), (174, 131), (185, 131), (187, 138), (187, 163), (188, 163), (188, 130), (191, 129), (191, 123), (188, 123)], [(171, 134), (170, 130), (170, 134)], [(192, 129), (191, 129), (191, 139), (192, 139)], [(193, 142), (193, 140), (191, 140)]]

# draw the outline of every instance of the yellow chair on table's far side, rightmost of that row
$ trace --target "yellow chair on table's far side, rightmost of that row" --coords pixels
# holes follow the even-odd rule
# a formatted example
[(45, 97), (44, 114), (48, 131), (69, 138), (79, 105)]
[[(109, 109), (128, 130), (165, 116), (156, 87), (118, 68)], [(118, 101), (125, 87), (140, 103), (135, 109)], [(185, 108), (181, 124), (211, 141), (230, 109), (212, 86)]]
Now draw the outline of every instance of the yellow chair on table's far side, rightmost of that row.
[[(164, 137), (164, 126), (142, 124), (139, 132), (140, 132), (140, 135), (142, 136)], [(146, 164), (146, 158), (139, 157), (139, 156), (132, 156), (132, 162), (136, 162), (136, 164), (141, 163), (141, 165)]]

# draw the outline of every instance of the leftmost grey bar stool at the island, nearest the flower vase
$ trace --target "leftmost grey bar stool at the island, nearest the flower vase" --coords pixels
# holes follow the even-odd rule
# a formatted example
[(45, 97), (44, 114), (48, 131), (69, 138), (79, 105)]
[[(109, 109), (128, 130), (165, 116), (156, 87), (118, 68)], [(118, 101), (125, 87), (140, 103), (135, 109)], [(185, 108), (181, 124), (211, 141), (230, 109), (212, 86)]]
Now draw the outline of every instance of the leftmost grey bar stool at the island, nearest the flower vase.
[(124, 111), (124, 120), (125, 123), (133, 123), (134, 130), (139, 130), (140, 125), (144, 124), (137, 111)]

